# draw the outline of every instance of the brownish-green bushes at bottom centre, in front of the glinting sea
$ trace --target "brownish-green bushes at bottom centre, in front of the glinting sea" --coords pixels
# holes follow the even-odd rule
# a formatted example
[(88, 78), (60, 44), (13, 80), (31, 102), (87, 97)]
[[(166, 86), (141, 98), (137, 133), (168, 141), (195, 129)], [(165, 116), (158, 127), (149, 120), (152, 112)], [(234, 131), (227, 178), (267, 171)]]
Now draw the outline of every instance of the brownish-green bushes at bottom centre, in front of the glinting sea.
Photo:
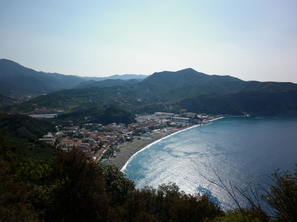
[(174, 183), (162, 184), (158, 189), (145, 187), (136, 190), (121, 208), (116, 208), (109, 216), (119, 217), (119, 212), (121, 221), (190, 222), (222, 214), (207, 196), (186, 195)]

